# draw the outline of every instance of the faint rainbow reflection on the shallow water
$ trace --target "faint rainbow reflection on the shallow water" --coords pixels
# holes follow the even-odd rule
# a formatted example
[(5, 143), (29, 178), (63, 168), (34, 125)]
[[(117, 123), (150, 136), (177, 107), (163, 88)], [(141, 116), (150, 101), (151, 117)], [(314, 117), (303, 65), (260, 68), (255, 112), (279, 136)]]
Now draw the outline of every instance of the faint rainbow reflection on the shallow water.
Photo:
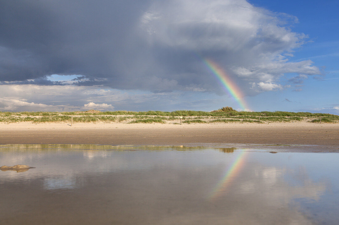
[(218, 198), (219, 196), (227, 192), (227, 186), (231, 183), (232, 179), (235, 178), (235, 175), (242, 168), (245, 161), (245, 154), (247, 151), (242, 150), (239, 155), (236, 157), (234, 162), (225, 170), (224, 175), (213, 189), (213, 191), (208, 195), (208, 199)]

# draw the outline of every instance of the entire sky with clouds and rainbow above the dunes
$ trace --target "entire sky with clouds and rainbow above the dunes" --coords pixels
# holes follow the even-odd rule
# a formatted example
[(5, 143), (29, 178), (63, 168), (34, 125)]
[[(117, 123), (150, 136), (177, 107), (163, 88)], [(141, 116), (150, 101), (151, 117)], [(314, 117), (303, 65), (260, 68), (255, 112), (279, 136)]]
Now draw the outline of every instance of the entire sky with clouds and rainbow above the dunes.
[(334, 0), (0, 0), (0, 110), (339, 115)]

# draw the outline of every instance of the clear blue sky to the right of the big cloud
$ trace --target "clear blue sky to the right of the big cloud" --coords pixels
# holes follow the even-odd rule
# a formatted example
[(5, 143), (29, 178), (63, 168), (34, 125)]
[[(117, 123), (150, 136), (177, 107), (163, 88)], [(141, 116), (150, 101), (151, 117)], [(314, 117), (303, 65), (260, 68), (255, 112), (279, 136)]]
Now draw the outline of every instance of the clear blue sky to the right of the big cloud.
[[(284, 12), (298, 18), (298, 23), (291, 29), (308, 35), (309, 42), (305, 43), (293, 54), (293, 61), (310, 59), (321, 69), (322, 76), (307, 79), (300, 87), (302, 91), (283, 91), (273, 94), (274, 99), (288, 99), (280, 104), (294, 111), (328, 111), (338, 115), (339, 111), (331, 109), (339, 102), (339, 17), (338, 1), (266, 1), (252, 0), (252, 4), (274, 12)], [(263, 98), (270, 99), (272, 93), (262, 93)], [(260, 104), (257, 102), (257, 104)], [(261, 107), (265, 107), (263, 104)]]

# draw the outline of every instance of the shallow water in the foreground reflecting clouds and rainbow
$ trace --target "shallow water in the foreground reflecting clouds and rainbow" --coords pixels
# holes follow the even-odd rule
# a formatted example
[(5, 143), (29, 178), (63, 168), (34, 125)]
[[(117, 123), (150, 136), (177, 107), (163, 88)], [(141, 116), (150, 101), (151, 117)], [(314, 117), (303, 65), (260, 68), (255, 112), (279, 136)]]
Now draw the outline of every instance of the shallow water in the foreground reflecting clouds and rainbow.
[[(274, 150), (272, 150), (274, 152)], [(3, 224), (336, 224), (338, 153), (1, 145)]]

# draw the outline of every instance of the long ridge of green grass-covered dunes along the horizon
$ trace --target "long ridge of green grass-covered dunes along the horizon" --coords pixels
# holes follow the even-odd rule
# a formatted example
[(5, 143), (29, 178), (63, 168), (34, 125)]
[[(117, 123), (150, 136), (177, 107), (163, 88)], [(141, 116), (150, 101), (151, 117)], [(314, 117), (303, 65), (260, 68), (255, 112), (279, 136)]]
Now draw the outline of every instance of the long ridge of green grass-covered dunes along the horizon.
[[(338, 123), (339, 116), (321, 113), (285, 112), (285, 111), (191, 111), (177, 110), (166, 111), (77, 111), (77, 112), (0, 112), (0, 123), (69, 123), (73, 118), (74, 123), (89, 122), (121, 122), (121, 123), (178, 123), (180, 116), (183, 123), (262, 123), (293, 122), (306, 120), (319, 123)], [(166, 122), (167, 121), (167, 122)]]

